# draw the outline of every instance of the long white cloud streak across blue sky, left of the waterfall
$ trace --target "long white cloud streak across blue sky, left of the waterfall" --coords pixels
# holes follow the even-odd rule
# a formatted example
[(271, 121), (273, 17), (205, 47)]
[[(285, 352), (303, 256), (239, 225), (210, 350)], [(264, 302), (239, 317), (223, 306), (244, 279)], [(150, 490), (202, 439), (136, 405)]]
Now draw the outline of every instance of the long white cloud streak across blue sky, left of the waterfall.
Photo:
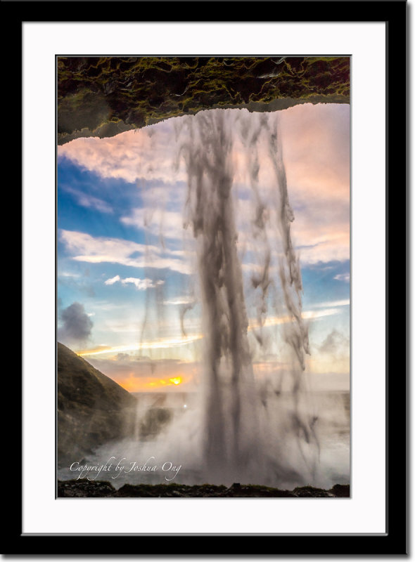
[(179, 259), (182, 255), (180, 251), (169, 251), (120, 238), (93, 237), (72, 230), (60, 230), (60, 240), (75, 261), (120, 263), (122, 266), (134, 268), (170, 269), (184, 275), (192, 273), (190, 264)]

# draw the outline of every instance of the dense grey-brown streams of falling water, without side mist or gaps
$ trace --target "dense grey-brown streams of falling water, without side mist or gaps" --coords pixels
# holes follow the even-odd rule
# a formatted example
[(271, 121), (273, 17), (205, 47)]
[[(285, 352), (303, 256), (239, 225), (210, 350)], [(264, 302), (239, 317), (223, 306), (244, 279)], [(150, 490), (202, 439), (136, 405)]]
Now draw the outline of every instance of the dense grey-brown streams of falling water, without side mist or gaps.
[[(290, 419), (280, 419), (280, 427), (272, 427), (275, 416), (269, 409), (278, 408), (279, 404), (275, 400), (268, 404), (262, 397), (248, 341), (250, 327), (238, 255), (234, 197), (235, 141), (242, 143), (245, 150), (245, 172), (251, 190), (250, 236), (257, 241), (254, 251), (260, 254), (260, 268), (250, 277), (257, 301), (257, 321), (252, 330), (258, 344), (264, 346), (269, 289), (273, 286), (275, 291), (279, 287), (279, 313), (283, 311), (285, 315), (283, 336), (292, 356), (289, 374), (293, 410)], [(274, 175), (274, 189), (266, 193), (262, 193), (259, 180), (260, 142), (267, 147), (267, 166)], [(295, 466), (297, 455), (286, 458), (286, 439), (290, 438), (297, 441), (302, 462), (313, 473), (319, 449), (315, 419), (301, 402), (305, 393), (305, 354), (309, 353), (308, 331), (301, 315), (300, 263), (290, 235), (294, 216), (288, 200), (276, 115), (238, 110), (199, 112), (183, 119), (178, 143), (178, 160), (184, 159), (188, 184), (185, 222), (196, 240), (203, 308), (205, 467), (215, 480), (224, 473), (239, 479), (253, 478), (255, 466), (281, 480), (303, 471)], [(270, 224), (272, 219), (274, 224)], [(274, 243), (279, 251), (274, 251), (274, 269), (278, 273), (273, 280)], [(308, 457), (302, 441), (312, 451)]]

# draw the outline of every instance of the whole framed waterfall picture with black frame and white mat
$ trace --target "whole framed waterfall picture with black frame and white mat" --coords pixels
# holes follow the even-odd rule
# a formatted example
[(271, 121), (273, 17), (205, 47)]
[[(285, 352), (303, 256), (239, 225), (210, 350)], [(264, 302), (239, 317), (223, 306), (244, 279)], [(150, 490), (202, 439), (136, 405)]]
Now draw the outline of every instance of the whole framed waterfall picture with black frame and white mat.
[(406, 3), (33, 4), (5, 552), (407, 554)]

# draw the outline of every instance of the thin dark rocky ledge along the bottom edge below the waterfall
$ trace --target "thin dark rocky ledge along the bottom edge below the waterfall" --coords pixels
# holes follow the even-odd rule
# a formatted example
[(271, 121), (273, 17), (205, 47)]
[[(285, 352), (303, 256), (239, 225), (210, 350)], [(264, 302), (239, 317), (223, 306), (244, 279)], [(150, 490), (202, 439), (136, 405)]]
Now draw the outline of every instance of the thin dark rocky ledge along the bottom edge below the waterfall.
[(125, 484), (115, 490), (109, 482), (68, 480), (58, 481), (58, 497), (350, 497), (348, 484), (336, 484), (331, 490), (303, 486), (294, 490), (278, 490), (266, 486), (210, 484)]

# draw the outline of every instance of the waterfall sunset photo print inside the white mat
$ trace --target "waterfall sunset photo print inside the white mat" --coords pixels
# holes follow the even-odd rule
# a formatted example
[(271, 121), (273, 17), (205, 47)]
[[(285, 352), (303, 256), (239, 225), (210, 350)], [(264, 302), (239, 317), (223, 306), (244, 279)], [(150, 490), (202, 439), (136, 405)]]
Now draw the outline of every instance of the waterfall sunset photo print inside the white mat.
[(350, 57), (56, 57), (57, 497), (350, 497)]

